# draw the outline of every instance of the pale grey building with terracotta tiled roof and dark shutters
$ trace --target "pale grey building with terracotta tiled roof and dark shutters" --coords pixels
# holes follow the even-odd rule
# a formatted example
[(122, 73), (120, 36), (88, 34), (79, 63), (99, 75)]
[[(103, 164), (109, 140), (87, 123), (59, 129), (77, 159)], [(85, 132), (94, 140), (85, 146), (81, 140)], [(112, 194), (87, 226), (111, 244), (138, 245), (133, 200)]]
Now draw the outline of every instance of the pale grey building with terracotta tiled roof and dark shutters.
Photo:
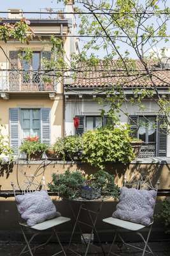
[[(114, 63), (111, 67), (114, 67)], [(102, 70), (102, 67), (98, 69)], [(161, 77), (162, 80), (167, 81), (167, 83), (162, 83), (159, 79), (155, 80), (159, 95), (169, 97), (169, 72), (164, 70), (155, 70), (155, 72), (157, 72), (157, 76)], [(110, 77), (108, 74), (110, 74)], [(80, 72), (76, 81), (69, 88), (65, 86), (66, 135), (82, 134), (85, 131), (103, 127), (107, 124), (108, 118), (107, 116), (101, 117), (101, 110), (104, 109), (105, 113), (107, 113), (110, 106), (108, 104), (99, 104), (97, 98), (109, 97), (109, 95), (104, 93), (104, 89), (116, 86), (118, 83), (112, 74), (108, 70), (108, 77), (103, 78), (102, 72), (97, 72), (97, 70)], [(132, 79), (134, 80), (134, 77)], [(139, 81), (139, 84), (132, 82), (132, 80), (124, 81), (122, 84), (124, 86), (124, 93), (127, 97), (133, 97), (136, 88), (139, 90), (143, 89), (142, 83), (145, 84), (145, 88), (150, 88), (151, 84), (149, 82), (146, 84), (145, 79)], [(143, 109), (130, 102), (122, 104), (121, 110), (118, 113), (120, 122), (122, 124), (129, 124), (132, 131), (131, 135), (143, 141), (139, 157), (170, 157), (170, 136), (167, 134), (167, 130), (162, 129), (162, 122), (165, 117), (162, 115), (158, 118), (159, 106), (156, 100), (145, 99), (142, 104), (145, 107)], [(125, 113), (128, 113), (128, 115), (125, 115)], [(74, 117), (76, 116), (80, 118), (78, 129), (74, 127)]]

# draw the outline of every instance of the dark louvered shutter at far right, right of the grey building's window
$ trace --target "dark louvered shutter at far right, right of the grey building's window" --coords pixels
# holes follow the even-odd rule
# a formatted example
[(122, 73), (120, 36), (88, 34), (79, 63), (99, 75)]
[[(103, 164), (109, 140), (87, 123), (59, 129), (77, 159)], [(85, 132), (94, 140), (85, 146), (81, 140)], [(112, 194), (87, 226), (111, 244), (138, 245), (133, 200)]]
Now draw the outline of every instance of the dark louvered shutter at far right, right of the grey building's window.
[(166, 116), (159, 116), (158, 121), (157, 155), (166, 157), (167, 154), (167, 119)]

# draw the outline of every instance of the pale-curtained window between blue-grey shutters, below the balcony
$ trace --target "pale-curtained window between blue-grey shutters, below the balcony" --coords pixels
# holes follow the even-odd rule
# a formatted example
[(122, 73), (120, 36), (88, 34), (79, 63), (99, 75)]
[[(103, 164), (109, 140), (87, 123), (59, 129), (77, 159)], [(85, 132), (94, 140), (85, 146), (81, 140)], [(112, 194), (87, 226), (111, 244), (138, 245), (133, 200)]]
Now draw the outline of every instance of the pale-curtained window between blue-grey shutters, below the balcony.
[(21, 137), (41, 137), (40, 109), (21, 109)]

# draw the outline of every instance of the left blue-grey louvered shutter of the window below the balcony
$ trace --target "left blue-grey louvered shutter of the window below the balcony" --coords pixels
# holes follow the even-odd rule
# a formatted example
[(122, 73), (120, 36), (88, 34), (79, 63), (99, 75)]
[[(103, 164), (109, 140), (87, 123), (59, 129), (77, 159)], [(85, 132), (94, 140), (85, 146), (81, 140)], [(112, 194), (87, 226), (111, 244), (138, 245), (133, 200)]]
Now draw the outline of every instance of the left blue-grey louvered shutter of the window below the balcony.
[(10, 146), (14, 154), (18, 154), (19, 147), (19, 109), (10, 108)]

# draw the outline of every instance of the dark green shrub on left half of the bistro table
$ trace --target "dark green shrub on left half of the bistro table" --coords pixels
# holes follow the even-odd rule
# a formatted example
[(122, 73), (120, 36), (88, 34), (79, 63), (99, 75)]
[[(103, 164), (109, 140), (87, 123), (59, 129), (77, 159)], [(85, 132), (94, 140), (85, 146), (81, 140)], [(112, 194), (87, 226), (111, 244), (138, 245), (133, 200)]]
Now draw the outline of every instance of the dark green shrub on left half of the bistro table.
[(85, 178), (81, 172), (69, 172), (57, 175), (53, 173), (52, 183), (48, 184), (51, 191), (57, 192), (62, 198), (73, 199), (80, 196), (81, 186)]

